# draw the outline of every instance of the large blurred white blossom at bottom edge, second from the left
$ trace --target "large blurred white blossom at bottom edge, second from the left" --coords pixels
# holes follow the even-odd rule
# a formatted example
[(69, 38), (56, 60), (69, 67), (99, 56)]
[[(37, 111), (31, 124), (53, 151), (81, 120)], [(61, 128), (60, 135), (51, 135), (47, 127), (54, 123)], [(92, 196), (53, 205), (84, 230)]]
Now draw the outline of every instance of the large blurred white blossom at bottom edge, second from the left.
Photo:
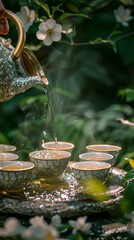
[(43, 216), (30, 219), (31, 226), (22, 234), (24, 239), (34, 240), (57, 240), (58, 231), (44, 221)]

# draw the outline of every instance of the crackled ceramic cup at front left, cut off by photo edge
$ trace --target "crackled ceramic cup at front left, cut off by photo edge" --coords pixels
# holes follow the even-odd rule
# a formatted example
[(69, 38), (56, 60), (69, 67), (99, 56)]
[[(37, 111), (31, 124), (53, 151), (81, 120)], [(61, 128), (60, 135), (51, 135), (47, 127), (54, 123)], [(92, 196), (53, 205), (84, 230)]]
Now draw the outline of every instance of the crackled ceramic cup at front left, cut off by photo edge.
[(27, 161), (0, 162), (0, 188), (4, 191), (21, 191), (31, 180), (34, 164)]

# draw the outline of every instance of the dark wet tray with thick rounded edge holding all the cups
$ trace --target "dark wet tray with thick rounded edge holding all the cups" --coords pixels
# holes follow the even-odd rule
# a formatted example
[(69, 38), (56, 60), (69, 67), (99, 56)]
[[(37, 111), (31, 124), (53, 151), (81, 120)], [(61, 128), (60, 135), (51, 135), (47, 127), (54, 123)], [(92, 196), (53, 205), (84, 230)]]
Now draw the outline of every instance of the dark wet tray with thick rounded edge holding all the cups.
[(33, 180), (20, 193), (0, 191), (0, 212), (26, 216), (43, 215), (51, 218), (55, 214), (61, 217), (78, 217), (115, 209), (125, 188), (121, 185), (126, 172), (112, 168), (107, 181), (108, 200), (97, 202), (83, 193), (73, 174), (68, 170), (61, 179), (53, 182)]

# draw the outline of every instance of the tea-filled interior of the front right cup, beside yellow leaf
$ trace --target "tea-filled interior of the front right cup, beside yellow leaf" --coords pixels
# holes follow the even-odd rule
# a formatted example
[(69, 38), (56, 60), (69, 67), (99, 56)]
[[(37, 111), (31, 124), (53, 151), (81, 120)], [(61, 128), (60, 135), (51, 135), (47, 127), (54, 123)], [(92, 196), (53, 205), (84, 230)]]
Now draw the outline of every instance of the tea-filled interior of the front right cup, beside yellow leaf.
[(98, 170), (104, 170), (104, 169), (110, 169), (111, 164), (106, 162), (76, 162), (71, 165), (71, 168), (79, 170), (79, 171), (98, 171)]

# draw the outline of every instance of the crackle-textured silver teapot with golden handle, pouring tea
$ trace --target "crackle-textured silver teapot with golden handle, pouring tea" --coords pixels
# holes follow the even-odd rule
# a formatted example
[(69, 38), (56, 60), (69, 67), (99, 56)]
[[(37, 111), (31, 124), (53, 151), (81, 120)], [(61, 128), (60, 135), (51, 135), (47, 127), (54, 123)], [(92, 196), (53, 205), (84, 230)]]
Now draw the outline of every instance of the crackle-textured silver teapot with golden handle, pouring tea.
[(0, 37), (0, 102), (8, 101), (16, 94), (33, 86), (47, 86), (44, 71), (31, 50), (25, 48), (26, 34), (20, 19), (6, 10), (18, 30), (18, 40), (14, 48), (9, 39)]

